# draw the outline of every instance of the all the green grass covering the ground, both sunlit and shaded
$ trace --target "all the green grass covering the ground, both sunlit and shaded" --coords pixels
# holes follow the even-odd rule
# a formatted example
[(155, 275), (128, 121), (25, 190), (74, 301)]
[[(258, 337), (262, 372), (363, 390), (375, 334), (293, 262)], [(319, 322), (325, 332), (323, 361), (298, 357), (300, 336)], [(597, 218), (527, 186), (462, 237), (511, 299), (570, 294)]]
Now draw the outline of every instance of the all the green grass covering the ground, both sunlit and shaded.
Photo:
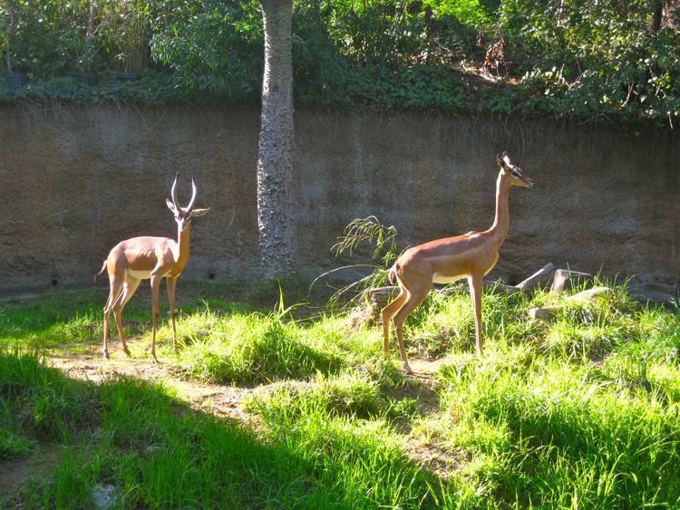
[[(375, 322), (295, 320), (283, 305), (224, 299), (226, 286), (187, 288), (180, 353), (163, 321), (159, 357), (247, 392), (257, 433), (189, 409), (167, 385), (48, 368), (44, 353), (101, 349), (101, 290), (5, 301), (0, 462), (60, 453), (50, 476), (0, 505), (89, 507), (103, 485), (120, 507), (680, 506), (677, 304), (636, 303), (625, 284), (582, 303), (488, 292), (478, 361), (469, 294), (431, 295), (405, 337), (413, 360), (435, 361), (432, 393), (404, 378), (396, 346), (384, 360)], [(275, 291), (251, 296), (272, 310)], [(124, 314), (135, 357), (147, 356), (148, 305)], [(529, 319), (542, 305), (558, 308)]]

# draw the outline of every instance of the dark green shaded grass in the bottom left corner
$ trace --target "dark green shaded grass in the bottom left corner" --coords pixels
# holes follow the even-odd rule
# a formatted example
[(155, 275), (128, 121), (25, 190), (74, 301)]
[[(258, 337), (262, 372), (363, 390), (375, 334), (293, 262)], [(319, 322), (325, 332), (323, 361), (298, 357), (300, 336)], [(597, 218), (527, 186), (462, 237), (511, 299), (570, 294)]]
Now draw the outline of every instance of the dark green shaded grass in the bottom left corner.
[[(14, 428), (64, 445), (51, 483), (35, 480), (16, 496), (29, 507), (89, 507), (97, 483), (115, 485), (124, 507), (287, 506), (308, 488), (307, 501), (328, 497), (285, 448), (189, 410), (162, 385), (128, 378), (78, 383), (31, 354), (3, 353), (0, 367), (12, 376), (2, 398)], [(48, 394), (56, 404), (41, 405)]]

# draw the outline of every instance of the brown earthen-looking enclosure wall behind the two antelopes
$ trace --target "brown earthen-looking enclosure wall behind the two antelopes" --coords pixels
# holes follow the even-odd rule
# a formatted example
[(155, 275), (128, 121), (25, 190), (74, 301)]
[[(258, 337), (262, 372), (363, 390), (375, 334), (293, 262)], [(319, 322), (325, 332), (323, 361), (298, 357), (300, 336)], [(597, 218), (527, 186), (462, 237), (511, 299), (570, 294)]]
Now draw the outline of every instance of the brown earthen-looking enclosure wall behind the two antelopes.
[[(193, 174), (211, 207), (183, 277), (257, 277), (258, 129), (250, 108), (0, 107), (0, 293), (88, 285), (121, 239), (175, 236), (175, 172), (180, 202)], [(491, 276), (551, 261), (678, 291), (680, 132), (436, 114), (298, 109), (300, 270), (346, 262), (329, 248), (355, 217), (396, 226), (404, 246), (491, 226), (502, 150), (536, 187), (511, 190)]]

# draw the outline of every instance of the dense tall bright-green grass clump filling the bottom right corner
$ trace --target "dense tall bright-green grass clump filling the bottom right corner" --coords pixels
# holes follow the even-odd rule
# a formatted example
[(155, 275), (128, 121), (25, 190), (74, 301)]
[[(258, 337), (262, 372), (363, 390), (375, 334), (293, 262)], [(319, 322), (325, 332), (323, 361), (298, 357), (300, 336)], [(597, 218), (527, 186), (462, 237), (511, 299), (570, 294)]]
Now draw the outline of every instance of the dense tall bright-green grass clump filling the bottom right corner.
[(436, 427), (479, 457), (461, 476), (490, 496), (521, 506), (677, 505), (676, 404), (560, 361), (529, 371), (490, 361), (442, 377), (449, 418)]

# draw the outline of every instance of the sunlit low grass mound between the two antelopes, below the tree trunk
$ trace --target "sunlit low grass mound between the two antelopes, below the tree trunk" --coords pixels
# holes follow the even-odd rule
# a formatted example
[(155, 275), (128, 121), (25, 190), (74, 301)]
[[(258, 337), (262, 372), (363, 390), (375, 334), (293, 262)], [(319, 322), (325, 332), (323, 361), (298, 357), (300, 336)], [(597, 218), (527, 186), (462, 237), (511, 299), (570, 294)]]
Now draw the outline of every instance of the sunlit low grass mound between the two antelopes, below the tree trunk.
[(183, 317), (180, 326), (186, 345), (172, 362), (213, 382), (308, 380), (361, 364), (379, 349), (379, 332), (353, 329), (342, 316), (296, 322), (288, 314), (208, 310)]

